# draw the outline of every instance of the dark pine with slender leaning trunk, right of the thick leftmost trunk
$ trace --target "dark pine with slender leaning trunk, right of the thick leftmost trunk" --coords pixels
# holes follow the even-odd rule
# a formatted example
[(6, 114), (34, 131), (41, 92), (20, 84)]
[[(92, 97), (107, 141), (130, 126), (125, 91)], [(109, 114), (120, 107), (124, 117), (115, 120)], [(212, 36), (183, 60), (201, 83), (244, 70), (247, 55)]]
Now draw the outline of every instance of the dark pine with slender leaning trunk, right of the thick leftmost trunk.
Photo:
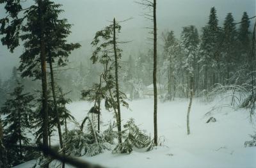
[[(55, 91), (55, 80), (54, 80), (54, 70), (52, 64), (57, 61), (58, 66), (67, 65), (68, 56), (71, 51), (79, 48), (81, 45), (79, 43), (67, 43), (67, 36), (70, 34), (70, 24), (67, 24), (67, 19), (59, 19), (58, 15), (62, 10), (60, 10), (60, 4), (54, 4), (50, 2), (46, 4), (45, 8), (49, 12), (47, 14), (46, 24), (46, 38), (49, 39), (45, 42), (45, 48), (47, 50), (47, 62), (50, 66), (51, 74), (51, 90), (52, 90), (52, 99), (54, 103), (54, 113), (56, 115), (56, 123), (58, 128), (58, 134), (60, 139), (60, 147), (63, 149), (63, 138), (61, 134), (61, 123), (60, 123), (60, 112), (58, 111), (58, 103), (56, 100), (56, 91)], [(63, 151), (65, 153), (65, 150)], [(65, 164), (62, 164), (62, 167), (65, 167)]]

